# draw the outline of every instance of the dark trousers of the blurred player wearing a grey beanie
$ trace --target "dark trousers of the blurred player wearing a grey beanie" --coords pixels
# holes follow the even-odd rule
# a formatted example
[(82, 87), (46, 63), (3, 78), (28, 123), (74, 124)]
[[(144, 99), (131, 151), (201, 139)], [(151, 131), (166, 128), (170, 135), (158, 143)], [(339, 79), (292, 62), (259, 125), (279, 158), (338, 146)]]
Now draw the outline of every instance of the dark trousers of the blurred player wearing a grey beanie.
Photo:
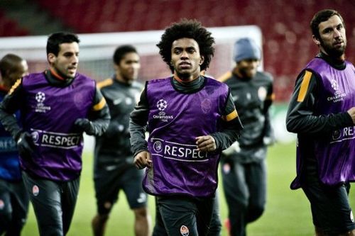
[(246, 225), (258, 219), (266, 204), (266, 163), (222, 162), (224, 195), (229, 211), (231, 236), (246, 235)]

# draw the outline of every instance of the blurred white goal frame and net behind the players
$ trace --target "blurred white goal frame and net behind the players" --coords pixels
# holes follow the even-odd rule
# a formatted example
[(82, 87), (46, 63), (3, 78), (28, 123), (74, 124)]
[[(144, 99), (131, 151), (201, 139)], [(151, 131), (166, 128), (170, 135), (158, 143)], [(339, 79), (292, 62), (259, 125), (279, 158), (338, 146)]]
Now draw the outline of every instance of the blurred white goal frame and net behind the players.
[[(207, 74), (213, 77), (219, 77), (231, 69), (233, 45), (238, 38), (253, 38), (262, 49), (262, 34), (258, 26), (228, 26), (208, 30), (216, 41), (215, 54), (207, 69)], [(142, 82), (167, 77), (170, 70), (160, 58), (156, 47), (162, 34), (163, 30), (78, 34), (80, 38), (78, 72), (87, 74), (97, 81), (111, 77), (114, 73), (112, 64), (114, 50), (119, 45), (131, 44), (141, 55), (139, 79)], [(6, 53), (14, 53), (28, 61), (30, 72), (41, 72), (48, 68), (45, 52), (47, 38), (48, 35), (0, 38), (0, 57)]]

